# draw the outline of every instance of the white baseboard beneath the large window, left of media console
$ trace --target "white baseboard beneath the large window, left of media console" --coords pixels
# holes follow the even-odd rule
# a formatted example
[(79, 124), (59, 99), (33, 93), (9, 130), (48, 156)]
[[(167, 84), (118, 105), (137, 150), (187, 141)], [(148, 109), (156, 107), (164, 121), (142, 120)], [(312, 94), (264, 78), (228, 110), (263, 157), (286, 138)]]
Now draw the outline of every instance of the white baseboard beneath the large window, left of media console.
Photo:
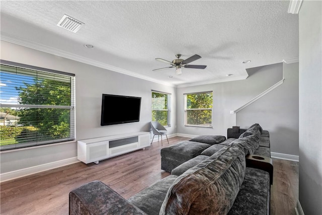
[(74, 158), (68, 158), (68, 159), (55, 161), (55, 162), (51, 162), (51, 163), (47, 163), (47, 164), (42, 164), (42, 165), (38, 165), (38, 166), (34, 166), (34, 167), (28, 167), (25, 169), (6, 172), (3, 174), (0, 174), (0, 182), (9, 181), (12, 179), (24, 177), (27, 175), (32, 175), (32, 174), (43, 172), (46, 170), (55, 169), (57, 167), (62, 167), (62, 166), (74, 164), (77, 162), (80, 162), (80, 161), (77, 160), (77, 157), (74, 157)]

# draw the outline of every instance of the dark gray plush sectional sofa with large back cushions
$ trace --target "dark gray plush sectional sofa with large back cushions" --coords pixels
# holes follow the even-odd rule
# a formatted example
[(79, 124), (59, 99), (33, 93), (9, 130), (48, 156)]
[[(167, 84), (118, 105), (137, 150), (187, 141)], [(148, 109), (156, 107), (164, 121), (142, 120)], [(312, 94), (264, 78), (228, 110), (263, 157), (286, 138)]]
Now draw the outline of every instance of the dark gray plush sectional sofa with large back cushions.
[[(183, 151), (168, 177), (127, 200), (100, 181), (89, 182), (69, 193), (69, 214), (269, 214), (270, 172), (257, 164), (260, 160), (247, 162), (261, 134), (255, 124), (234, 139), (201, 136), (214, 141), (206, 148), (198, 141), (173, 145)], [(185, 151), (190, 146), (195, 153)]]

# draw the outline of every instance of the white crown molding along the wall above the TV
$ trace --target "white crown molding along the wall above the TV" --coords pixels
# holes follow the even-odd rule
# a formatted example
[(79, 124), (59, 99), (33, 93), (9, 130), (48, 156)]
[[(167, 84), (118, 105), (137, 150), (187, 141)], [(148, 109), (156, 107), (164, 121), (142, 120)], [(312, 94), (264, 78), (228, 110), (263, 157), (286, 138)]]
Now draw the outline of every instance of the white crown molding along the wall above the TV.
[(123, 68), (120, 68), (120, 67), (117, 67), (117, 66), (110, 65), (108, 63), (103, 63), (103, 62), (93, 60), (93, 59), (90, 59), (90, 58), (87, 58), (87, 57), (72, 54), (70, 52), (66, 52), (66, 51), (63, 51), (63, 50), (60, 50), (60, 49), (52, 48), (52, 47), (42, 45), (42, 44), (39, 44), (39, 43), (36, 43), (36, 42), (31, 42), (29, 40), (18, 38), (18, 37), (15, 37), (15, 36), (3, 33), (3, 32), (1, 32), (1, 40), (6, 41), (6, 42), (10, 42), (10, 43), (14, 43), (14, 44), (17, 44), (17, 45), (25, 46), (25, 47), (28, 47), (28, 48), (32, 48), (32, 49), (35, 49), (35, 50), (38, 50), (38, 51), (46, 52), (46, 53), (49, 53), (49, 54), (54, 54), (54, 55), (64, 57), (64, 58), (67, 58), (67, 59), (75, 60), (75, 61), (78, 61), (78, 62), (86, 63), (86, 64), (89, 64), (89, 65), (94, 65), (94, 66), (97, 66), (97, 67), (105, 68), (105, 69), (115, 71), (117, 73), (121, 73), (121, 74), (124, 74), (124, 75), (127, 75), (127, 76), (132, 76), (132, 77), (135, 77), (135, 78), (138, 78), (138, 79), (154, 82), (154, 83), (157, 83), (157, 84), (167, 85), (167, 86), (170, 86), (170, 87), (177, 87), (177, 85), (170, 84), (170, 83), (167, 83), (167, 82), (160, 82), (159, 80), (152, 79), (150, 77), (134, 73), (133, 71), (129, 71), (127, 69), (123, 69)]

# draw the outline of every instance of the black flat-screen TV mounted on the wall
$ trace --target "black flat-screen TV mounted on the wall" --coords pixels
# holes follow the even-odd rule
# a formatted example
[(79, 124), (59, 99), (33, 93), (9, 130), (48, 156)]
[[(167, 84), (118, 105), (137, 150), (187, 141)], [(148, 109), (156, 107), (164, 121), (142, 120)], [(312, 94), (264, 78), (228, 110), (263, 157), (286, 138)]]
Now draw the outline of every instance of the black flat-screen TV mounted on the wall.
[(101, 125), (113, 125), (140, 120), (141, 97), (102, 95)]

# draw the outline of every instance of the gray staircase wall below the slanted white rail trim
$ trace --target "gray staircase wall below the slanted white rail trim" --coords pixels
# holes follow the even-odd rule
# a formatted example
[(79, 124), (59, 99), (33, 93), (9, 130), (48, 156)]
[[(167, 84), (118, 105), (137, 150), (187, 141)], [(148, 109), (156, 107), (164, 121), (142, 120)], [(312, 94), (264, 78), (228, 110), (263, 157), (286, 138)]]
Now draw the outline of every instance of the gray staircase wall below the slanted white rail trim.
[(284, 83), (236, 114), (245, 128), (254, 122), (270, 132), (271, 152), (298, 156), (298, 63), (283, 63)]

